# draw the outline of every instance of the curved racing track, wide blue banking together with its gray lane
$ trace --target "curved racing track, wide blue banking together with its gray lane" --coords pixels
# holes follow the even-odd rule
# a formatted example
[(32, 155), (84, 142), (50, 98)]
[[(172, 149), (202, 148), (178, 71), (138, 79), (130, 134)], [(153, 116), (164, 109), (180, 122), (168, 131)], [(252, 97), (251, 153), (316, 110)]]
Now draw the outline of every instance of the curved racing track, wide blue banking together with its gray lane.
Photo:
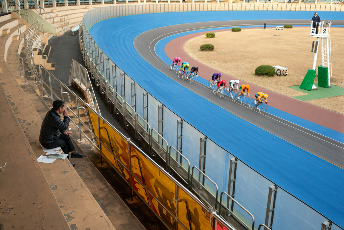
[[(332, 17), (343, 20), (341, 18), (343, 14), (331, 13), (334, 14), (330, 15), (330, 12), (321, 12), (324, 15), (322, 18)], [(303, 14), (307, 16), (304, 17), (300, 12), (290, 11), (278, 13), (255, 11), (251, 13), (250, 18), (265, 18), (264, 20), (272, 20), (273, 18), (285, 18), (284, 20), (291, 20), (291, 18), (295, 20), (308, 19), (308, 12), (303, 12)], [(310, 130), (301, 127), (296, 129), (294, 124), (281, 121), (276, 116), (260, 116), (238, 103), (214, 97), (212, 92), (209, 92), (201, 84), (190, 84), (178, 79), (174, 73), (167, 69), (166, 64), (155, 59), (154, 53), (150, 54), (148, 52), (152, 51), (148, 44), (159, 36), (153, 32), (166, 29), (161, 27), (169, 26), (167, 30), (171, 32), (173, 31), (171, 25), (173, 24), (197, 23), (200, 21), (202, 21), (203, 27), (211, 27), (212, 24), (208, 21), (214, 21), (214, 18), (219, 20), (216, 22), (216, 27), (221, 27), (221, 23), (224, 23), (224, 26), (233, 25), (233, 23), (225, 20), (243, 20), (247, 19), (247, 16), (234, 11), (230, 12), (230, 15), (228, 12), (223, 11), (133, 15), (99, 22), (97, 26), (90, 29), (90, 33), (111, 60), (166, 107), (261, 175), (343, 227), (344, 212), (342, 207), (344, 201), (341, 196), (344, 192), (342, 183), (344, 170), (312, 155), (319, 156), (323, 154), (321, 156), (326, 157), (327, 160), (334, 164), (343, 165), (343, 161), (340, 161), (343, 160), (340, 155), (340, 153), (343, 154), (344, 138), (342, 133), (310, 123), (307, 128), (313, 129), (314, 127), (317, 133), (322, 133), (325, 136), (312, 133)], [(309, 22), (309, 20), (307, 21)], [(239, 21), (236, 23), (236, 25), (240, 25)], [(272, 22), (270, 21), (269, 24), (272, 24)], [(259, 25), (261, 25), (261, 22), (259, 22)], [(189, 26), (195, 28), (193, 24), (183, 24), (182, 29)], [(109, 30), (109, 28), (116, 30)], [(160, 29), (153, 31), (152, 29), (155, 28)], [(179, 30), (178, 26), (175, 28), (175, 30)], [(150, 38), (147, 38), (147, 33), (142, 36), (143, 39), (147, 40), (140, 40), (137, 37), (142, 32), (149, 30), (151, 30), (149, 36), (152, 35)], [(107, 31), (107, 36), (103, 36), (104, 31)], [(164, 32), (160, 34), (164, 34)], [(134, 45), (137, 44), (137, 50), (135, 50), (133, 43)], [(154, 67), (149, 65), (147, 61)], [(159, 70), (165, 74), (162, 74)], [(200, 75), (201, 73), (203, 73), (203, 69)], [(252, 90), (252, 92), (254, 91)], [(268, 109), (269, 111), (277, 111), (271, 107)], [(279, 113), (276, 112), (276, 114)], [(214, 126), (214, 119), (222, 121), (223, 125)], [(229, 124), (234, 124), (237, 129), (242, 130), (245, 134), (233, 137), (228, 132)], [(257, 142), (255, 139), (257, 134), (266, 137), (264, 144)], [(283, 139), (287, 140), (287, 142)], [(257, 144), (259, 144), (258, 149)], [(242, 145), (245, 145), (246, 149), (243, 149)], [(186, 157), (190, 158), (189, 156)], [(211, 156), (208, 158), (207, 155), (207, 161), (216, 162), (216, 158), (221, 159), (224, 157), (213, 156), (212, 159)], [(206, 167), (206, 173), (219, 175), (218, 171), (223, 172), (225, 168), (221, 164), (226, 163), (219, 163), (219, 166), (214, 169)]]

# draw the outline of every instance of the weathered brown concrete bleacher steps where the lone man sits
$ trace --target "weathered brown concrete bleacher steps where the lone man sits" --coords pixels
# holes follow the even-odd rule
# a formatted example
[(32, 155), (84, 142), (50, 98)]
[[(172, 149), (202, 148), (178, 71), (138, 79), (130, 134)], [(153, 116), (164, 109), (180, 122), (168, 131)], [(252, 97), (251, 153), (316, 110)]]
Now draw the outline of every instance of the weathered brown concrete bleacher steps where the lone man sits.
[[(17, 54), (29, 26), (21, 23), (11, 14), (0, 17), (0, 167), (7, 163), (0, 172), (1, 229), (115, 229), (123, 222), (144, 229), (87, 157), (71, 160), (80, 173), (92, 175), (89, 179), (82, 179), (68, 159), (52, 164), (36, 160), (44, 155), (38, 137), (51, 101), (37, 93), (32, 76), (26, 75), (26, 83), (20, 76)], [(107, 213), (99, 203), (108, 204)]]

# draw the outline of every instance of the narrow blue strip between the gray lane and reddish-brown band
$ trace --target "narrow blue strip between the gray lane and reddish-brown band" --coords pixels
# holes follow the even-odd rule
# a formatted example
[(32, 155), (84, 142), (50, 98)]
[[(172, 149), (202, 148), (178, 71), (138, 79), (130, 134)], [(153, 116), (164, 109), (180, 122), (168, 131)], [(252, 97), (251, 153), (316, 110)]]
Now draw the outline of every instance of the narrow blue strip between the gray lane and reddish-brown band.
[[(278, 25), (273, 25), (278, 26)], [(283, 25), (282, 25), (283, 26)], [(305, 27), (307, 25), (297, 25), (299, 27)], [(233, 26), (235, 27), (235, 26)], [(169, 57), (165, 53), (165, 46), (167, 43), (172, 41), (173, 39), (179, 38), (181, 36), (185, 36), (188, 34), (193, 34), (193, 33), (199, 33), (202, 31), (213, 31), (213, 30), (223, 30), (223, 29), (232, 29), (233, 27), (222, 27), (222, 28), (214, 28), (214, 29), (203, 29), (203, 30), (193, 30), (193, 31), (188, 31), (188, 32), (182, 32), (178, 34), (174, 34), (171, 36), (168, 36), (162, 40), (160, 40), (154, 47), (155, 53), (159, 56), (159, 58), (164, 61), (166, 64), (170, 65), (172, 63), (172, 60), (169, 59)], [(261, 28), (261, 25), (259, 26), (240, 26), (240, 28)], [(295, 26), (296, 27), (296, 26)], [(200, 82), (204, 85), (207, 85), (208, 80), (203, 79), (202, 77), (197, 77), (196, 79), (197, 82)], [(337, 132), (336, 130), (324, 127), (322, 125), (318, 125), (316, 123), (310, 122), (308, 120), (305, 120), (303, 118), (300, 118), (298, 116), (294, 116), (290, 113), (281, 111), (280, 109), (273, 108), (269, 106), (268, 113), (280, 117), (286, 121), (292, 122), (294, 124), (297, 124), (301, 127), (307, 128), (309, 130), (312, 130), (313, 132), (319, 133), (323, 136), (330, 137), (334, 140), (337, 140), (338, 142), (344, 143), (344, 134)]]

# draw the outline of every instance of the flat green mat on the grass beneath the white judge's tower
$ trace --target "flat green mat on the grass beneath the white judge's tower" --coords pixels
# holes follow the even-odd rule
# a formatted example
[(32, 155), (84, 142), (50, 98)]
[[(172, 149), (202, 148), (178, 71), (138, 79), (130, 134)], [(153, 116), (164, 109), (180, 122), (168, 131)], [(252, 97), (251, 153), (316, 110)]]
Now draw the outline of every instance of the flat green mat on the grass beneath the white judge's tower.
[(313, 99), (319, 99), (324, 97), (333, 97), (333, 96), (340, 96), (344, 95), (344, 88), (336, 85), (331, 85), (331, 88), (323, 88), (319, 87), (318, 84), (314, 84), (318, 90), (303, 90), (300, 88), (300, 85), (290, 86), (294, 90), (298, 90), (304, 93), (308, 93), (308, 95), (302, 96), (295, 96), (294, 98), (299, 99), (301, 101), (308, 101)]

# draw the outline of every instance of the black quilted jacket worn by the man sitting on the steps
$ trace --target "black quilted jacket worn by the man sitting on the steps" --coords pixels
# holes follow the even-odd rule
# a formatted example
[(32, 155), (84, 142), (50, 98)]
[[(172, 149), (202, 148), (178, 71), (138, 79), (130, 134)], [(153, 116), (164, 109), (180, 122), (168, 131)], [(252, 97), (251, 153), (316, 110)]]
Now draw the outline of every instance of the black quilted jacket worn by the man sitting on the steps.
[(61, 121), (60, 115), (52, 108), (45, 115), (40, 132), (40, 143), (52, 143), (66, 131), (69, 125), (69, 117), (64, 116)]

